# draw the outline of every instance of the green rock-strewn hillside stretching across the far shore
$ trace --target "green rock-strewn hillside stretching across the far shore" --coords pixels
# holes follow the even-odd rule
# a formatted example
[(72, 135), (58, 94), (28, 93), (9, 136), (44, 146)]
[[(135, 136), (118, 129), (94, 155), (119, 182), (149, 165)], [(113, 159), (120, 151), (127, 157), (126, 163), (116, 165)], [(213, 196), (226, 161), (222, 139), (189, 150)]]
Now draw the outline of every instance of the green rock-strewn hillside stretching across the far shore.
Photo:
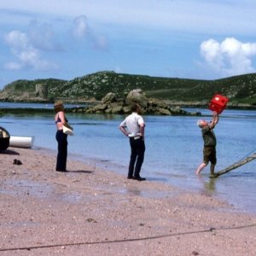
[(124, 96), (140, 88), (147, 96), (171, 101), (208, 102), (216, 93), (230, 98), (230, 102), (256, 105), (256, 73), (226, 79), (196, 80), (159, 78), (125, 73), (99, 72), (73, 80), (18, 80), (0, 91), (2, 101), (83, 102), (101, 100), (108, 92)]

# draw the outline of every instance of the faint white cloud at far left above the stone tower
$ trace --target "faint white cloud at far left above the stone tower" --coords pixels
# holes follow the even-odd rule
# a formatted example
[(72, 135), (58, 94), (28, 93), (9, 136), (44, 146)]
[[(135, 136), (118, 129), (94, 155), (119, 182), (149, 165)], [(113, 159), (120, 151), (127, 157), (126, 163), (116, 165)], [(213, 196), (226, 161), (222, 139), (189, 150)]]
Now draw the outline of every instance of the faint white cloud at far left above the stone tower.
[(34, 69), (44, 71), (57, 69), (57, 65), (46, 61), (42, 58), (40, 51), (34, 47), (31, 38), (20, 31), (12, 31), (5, 35), (5, 41), (9, 44), (11, 53), (15, 56), (16, 61), (5, 64), (9, 70)]

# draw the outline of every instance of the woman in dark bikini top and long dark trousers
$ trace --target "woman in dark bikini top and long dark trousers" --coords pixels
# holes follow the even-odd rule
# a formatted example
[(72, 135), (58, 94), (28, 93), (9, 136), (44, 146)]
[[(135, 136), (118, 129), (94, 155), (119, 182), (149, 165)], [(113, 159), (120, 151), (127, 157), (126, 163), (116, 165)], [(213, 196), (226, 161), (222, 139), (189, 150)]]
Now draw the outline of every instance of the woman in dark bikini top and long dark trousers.
[(56, 141), (58, 142), (58, 154), (56, 162), (57, 172), (67, 172), (67, 134), (63, 132), (63, 125), (67, 125), (67, 119), (64, 113), (64, 106), (61, 101), (55, 102), (55, 125), (56, 131)]

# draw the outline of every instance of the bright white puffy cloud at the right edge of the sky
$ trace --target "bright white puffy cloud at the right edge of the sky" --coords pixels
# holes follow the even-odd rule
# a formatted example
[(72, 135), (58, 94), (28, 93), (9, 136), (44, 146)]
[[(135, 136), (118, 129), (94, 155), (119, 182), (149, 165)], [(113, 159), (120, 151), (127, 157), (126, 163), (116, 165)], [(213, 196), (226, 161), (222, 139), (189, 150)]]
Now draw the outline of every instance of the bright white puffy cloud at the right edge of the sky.
[(243, 44), (236, 38), (225, 38), (221, 43), (209, 39), (201, 43), (200, 49), (207, 67), (223, 76), (256, 71), (252, 63), (256, 43)]

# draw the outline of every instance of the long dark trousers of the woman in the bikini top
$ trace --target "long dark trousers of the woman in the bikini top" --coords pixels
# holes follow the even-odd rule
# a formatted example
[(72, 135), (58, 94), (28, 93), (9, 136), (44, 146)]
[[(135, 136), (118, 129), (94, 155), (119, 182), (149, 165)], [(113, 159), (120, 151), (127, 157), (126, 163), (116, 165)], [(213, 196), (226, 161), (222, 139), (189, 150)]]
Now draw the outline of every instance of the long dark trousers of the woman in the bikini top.
[(67, 171), (67, 134), (62, 130), (56, 132), (56, 141), (58, 142), (58, 154), (56, 171)]

